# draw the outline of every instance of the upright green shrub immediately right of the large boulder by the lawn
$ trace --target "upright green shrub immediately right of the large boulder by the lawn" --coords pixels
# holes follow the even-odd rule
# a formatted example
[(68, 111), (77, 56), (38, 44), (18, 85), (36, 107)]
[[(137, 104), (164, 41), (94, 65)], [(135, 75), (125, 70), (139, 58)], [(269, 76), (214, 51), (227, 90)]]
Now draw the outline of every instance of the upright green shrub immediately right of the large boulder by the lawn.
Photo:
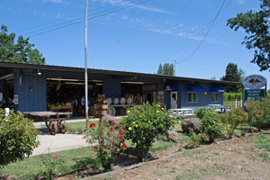
[(222, 135), (220, 116), (216, 112), (205, 112), (202, 117), (202, 132), (205, 133), (210, 142)]

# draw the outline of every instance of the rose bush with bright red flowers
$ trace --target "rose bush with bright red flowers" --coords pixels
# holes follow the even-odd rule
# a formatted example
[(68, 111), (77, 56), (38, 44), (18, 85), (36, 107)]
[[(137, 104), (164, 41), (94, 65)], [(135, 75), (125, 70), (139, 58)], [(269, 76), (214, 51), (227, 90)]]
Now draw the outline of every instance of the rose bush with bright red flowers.
[(85, 135), (85, 139), (90, 144), (94, 145), (94, 151), (100, 159), (105, 171), (111, 168), (115, 157), (126, 149), (124, 143), (126, 129), (121, 128), (121, 122), (115, 124), (107, 120), (100, 119), (96, 123), (90, 124), (90, 129)]

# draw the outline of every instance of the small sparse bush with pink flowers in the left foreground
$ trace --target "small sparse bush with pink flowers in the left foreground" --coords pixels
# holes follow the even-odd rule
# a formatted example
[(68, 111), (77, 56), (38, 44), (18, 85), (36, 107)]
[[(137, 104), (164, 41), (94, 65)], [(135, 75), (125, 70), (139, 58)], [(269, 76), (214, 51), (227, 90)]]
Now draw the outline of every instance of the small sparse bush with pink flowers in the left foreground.
[(52, 179), (53, 176), (56, 176), (57, 166), (60, 166), (64, 162), (58, 155), (52, 156), (50, 153), (41, 155), (40, 160), (37, 160), (37, 163), (43, 168), (40, 175), (44, 176), (47, 180)]

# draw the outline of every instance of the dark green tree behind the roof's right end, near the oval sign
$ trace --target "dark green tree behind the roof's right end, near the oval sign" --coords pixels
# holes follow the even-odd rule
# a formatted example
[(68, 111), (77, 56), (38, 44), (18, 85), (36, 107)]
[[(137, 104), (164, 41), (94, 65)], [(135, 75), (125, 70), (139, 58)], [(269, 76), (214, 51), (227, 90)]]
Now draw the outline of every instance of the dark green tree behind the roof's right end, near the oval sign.
[[(241, 82), (242, 75), (244, 75), (245, 72), (239, 68), (238, 65), (234, 63), (229, 63), (226, 67), (226, 75), (222, 76), (220, 80), (223, 81), (232, 81), (232, 82)], [(241, 87), (239, 85), (226, 85), (227, 92), (239, 92), (241, 90)]]

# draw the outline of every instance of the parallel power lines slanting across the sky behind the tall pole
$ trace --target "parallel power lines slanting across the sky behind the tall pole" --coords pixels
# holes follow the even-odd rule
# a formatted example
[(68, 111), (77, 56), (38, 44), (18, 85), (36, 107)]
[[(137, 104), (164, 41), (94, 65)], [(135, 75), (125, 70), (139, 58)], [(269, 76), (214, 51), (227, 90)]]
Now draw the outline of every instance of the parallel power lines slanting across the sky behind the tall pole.
[[(101, 17), (101, 16), (103, 16), (103, 15), (107, 15), (107, 14), (113, 14), (113, 13), (119, 12), (119, 11), (121, 11), (121, 10), (130, 8), (130, 7), (132, 7), (132, 6), (136, 6), (136, 5), (138, 5), (138, 4), (146, 3), (146, 2), (148, 2), (148, 1), (150, 1), (150, 0), (143, 0), (143, 1), (139, 0), (139, 1), (132, 2), (132, 3), (130, 3), (129, 5), (121, 5), (120, 7), (115, 7), (115, 8), (109, 9), (109, 10), (105, 10), (105, 11), (103, 11), (103, 12), (97, 13), (98, 15), (95, 15), (95, 16), (93, 16), (94, 14), (92, 14), (93, 17), (91, 17), (91, 16), (89, 17), (89, 16), (88, 16), (87, 20), (92, 20), (92, 19)], [(72, 22), (74, 22), (74, 21), (77, 21), (77, 22), (72, 23)], [(47, 27), (47, 28), (38, 30), (38, 31), (41, 31), (41, 32), (32, 34), (32, 35), (30, 35), (30, 37), (38, 36), (38, 35), (40, 35), (40, 34), (47, 33), (47, 32), (49, 32), (49, 31), (56, 31), (56, 30), (58, 30), (58, 29), (62, 29), (62, 28), (68, 27), (68, 26), (72, 26), (72, 25), (75, 25), (75, 24), (77, 24), (77, 23), (83, 23), (84, 21), (85, 21), (85, 20), (81, 20), (81, 18), (78, 18), (78, 19), (76, 19), (76, 20), (72, 20), (72, 21), (66, 22), (66, 23), (69, 23), (69, 24), (67, 24), (67, 25), (62, 25), (62, 24), (66, 24), (66, 23), (59, 23), (58, 25), (49, 26), (49, 27)], [(62, 25), (62, 26), (59, 26), (59, 25)], [(59, 26), (59, 27), (53, 28), (53, 27), (55, 27), (55, 26)], [(53, 28), (53, 29), (50, 29), (50, 28)], [(44, 31), (44, 30), (47, 30), (47, 29), (50, 29), (50, 30)], [(31, 31), (30, 33), (34, 33), (34, 32), (36, 32), (36, 31)], [(28, 34), (29, 34), (29, 33), (28, 33)]]

